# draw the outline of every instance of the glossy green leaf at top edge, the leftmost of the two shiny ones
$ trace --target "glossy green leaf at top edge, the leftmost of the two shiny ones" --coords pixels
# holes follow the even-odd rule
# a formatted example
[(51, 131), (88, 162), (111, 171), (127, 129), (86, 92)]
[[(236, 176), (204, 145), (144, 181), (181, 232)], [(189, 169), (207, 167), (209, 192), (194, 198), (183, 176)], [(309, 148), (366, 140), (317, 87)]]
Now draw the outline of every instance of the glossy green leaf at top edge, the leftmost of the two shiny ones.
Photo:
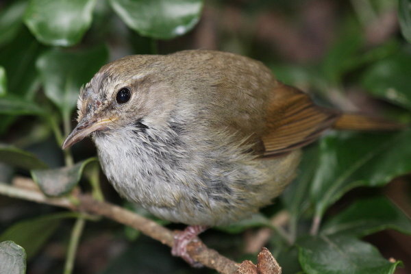
[(90, 27), (95, 2), (30, 0), (24, 21), (37, 40), (46, 45), (75, 45)]

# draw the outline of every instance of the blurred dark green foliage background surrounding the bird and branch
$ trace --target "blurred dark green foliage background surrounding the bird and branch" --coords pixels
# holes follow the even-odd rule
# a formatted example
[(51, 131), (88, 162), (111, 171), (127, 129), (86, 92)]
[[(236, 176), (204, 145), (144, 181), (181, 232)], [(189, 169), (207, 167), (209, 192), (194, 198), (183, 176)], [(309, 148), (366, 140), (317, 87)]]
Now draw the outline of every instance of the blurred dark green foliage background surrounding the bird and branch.
[[(153, 218), (114, 192), (90, 140), (60, 149), (80, 86), (129, 54), (239, 53), (322, 105), (411, 122), (410, 0), (9, 0), (0, 9), (4, 184), (32, 177), (47, 195), (69, 195), (79, 183)], [(238, 262), (255, 260), (264, 245), (286, 274), (408, 273), (410, 142), (410, 129), (329, 132), (305, 149), (297, 179), (273, 206), (201, 238)], [(23, 273), (24, 256), (30, 274), (68, 274), (67, 262), (73, 273), (215, 272), (191, 269), (112, 221), (0, 197), (0, 273)]]

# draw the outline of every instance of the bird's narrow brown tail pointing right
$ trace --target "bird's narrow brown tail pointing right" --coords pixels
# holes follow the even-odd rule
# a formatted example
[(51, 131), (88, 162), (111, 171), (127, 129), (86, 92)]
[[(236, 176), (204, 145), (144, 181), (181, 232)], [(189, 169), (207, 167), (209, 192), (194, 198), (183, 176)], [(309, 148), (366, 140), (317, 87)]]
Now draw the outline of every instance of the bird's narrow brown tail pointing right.
[(348, 130), (398, 130), (404, 129), (407, 125), (389, 121), (387, 119), (367, 116), (362, 114), (343, 114), (334, 123), (335, 129), (348, 129)]

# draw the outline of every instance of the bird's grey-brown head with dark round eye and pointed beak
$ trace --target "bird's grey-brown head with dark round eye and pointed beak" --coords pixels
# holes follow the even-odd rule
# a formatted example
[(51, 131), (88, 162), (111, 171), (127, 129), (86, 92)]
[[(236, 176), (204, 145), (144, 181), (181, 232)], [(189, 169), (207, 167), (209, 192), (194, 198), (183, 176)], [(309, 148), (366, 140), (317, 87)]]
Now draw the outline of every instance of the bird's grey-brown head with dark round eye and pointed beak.
[(135, 123), (161, 125), (173, 108), (171, 87), (161, 77), (160, 56), (132, 55), (103, 66), (82, 88), (77, 126), (63, 149), (93, 132), (112, 132)]

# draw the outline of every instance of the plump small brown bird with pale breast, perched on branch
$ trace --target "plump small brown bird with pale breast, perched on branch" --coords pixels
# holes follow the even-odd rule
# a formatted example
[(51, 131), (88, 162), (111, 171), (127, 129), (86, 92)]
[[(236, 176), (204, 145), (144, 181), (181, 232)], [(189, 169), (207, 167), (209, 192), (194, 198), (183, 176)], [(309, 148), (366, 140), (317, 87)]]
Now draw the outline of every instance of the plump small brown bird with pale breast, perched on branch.
[(314, 105), (261, 62), (219, 51), (131, 55), (103, 66), (79, 95), (63, 149), (92, 135), (103, 172), (155, 216), (206, 227), (245, 219), (295, 177), (301, 147), (329, 127), (397, 125)]

